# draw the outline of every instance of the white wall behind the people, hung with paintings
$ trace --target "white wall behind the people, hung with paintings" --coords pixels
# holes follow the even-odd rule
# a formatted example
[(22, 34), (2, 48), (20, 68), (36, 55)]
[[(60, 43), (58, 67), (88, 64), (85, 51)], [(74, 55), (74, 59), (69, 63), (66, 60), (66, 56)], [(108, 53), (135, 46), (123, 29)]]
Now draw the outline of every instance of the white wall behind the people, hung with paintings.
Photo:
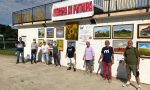
[[(107, 19), (101, 19), (101, 20), (96, 20), (97, 25), (93, 26), (103, 26), (103, 25), (118, 25), (118, 24), (134, 24), (134, 46), (136, 46), (136, 41), (150, 41), (149, 39), (137, 39), (137, 25), (138, 24), (143, 24), (143, 23), (150, 23), (150, 17), (148, 15), (143, 15), (143, 16), (130, 16), (130, 17), (118, 17), (118, 18), (107, 18)], [(80, 22), (80, 25), (90, 25), (89, 21), (82, 21)], [(60, 26), (65, 26), (64, 22), (58, 23), (58, 24), (49, 24), (49, 27), (60, 27)], [(38, 39), (38, 28), (27, 28), (27, 29), (19, 29), (19, 36), (27, 36), (26, 40), (26, 48), (25, 48), (25, 56), (27, 54), (30, 54), (30, 45), (32, 42), (33, 38)], [(56, 31), (55, 31), (56, 33)], [(54, 38), (51, 38), (53, 40), (57, 40), (55, 37), (54, 33)], [(46, 37), (44, 38), (46, 39)], [(60, 39), (60, 38), (59, 38)], [(65, 53), (66, 53), (66, 48), (67, 48), (67, 41), (65, 38), (64, 40), (64, 51), (61, 52), (61, 64), (63, 66), (67, 66), (66, 59), (65, 59)], [(109, 39), (111, 46), (112, 46), (112, 41), (113, 39)], [(95, 51), (95, 70), (94, 72), (97, 71), (98, 69), (98, 59), (100, 56), (100, 52), (102, 47), (104, 47), (104, 42), (105, 39), (96, 39), (96, 40), (91, 40), (91, 46), (94, 48)], [(76, 53), (77, 53), (77, 69), (84, 70), (83, 68), (83, 54), (84, 54), (84, 48), (85, 48), (85, 43), (83, 42), (76, 42)], [(126, 78), (126, 73), (125, 73), (125, 68), (120, 64), (119, 65), (119, 60), (117, 60), (118, 57), (122, 56), (121, 54), (115, 54), (115, 63), (112, 66), (112, 75), (114, 77), (117, 76), (117, 73), (119, 73), (119, 77)], [(150, 59), (141, 59), (140, 63), (140, 78), (142, 83), (147, 83), (150, 84), (150, 70), (149, 70), (149, 64), (150, 64)], [(119, 71), (119, 72), (117, 72)], [(134, 77), (132, 77), (132, 80), (135, 81)]]

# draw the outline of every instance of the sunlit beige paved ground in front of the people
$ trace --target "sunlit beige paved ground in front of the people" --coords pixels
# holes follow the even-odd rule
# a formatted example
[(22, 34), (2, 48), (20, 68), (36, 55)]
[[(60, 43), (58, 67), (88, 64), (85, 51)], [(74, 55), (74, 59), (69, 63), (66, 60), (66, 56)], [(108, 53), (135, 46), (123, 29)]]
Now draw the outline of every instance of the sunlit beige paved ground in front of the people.
[[(0, 55), (0, 90), (136, 90), (133, 86), (122, 87), (123, 82), (115, 78), (109, 84), (99, 75), (80, 70), (15, 62), (14, 56)], [(150, 90), (150, 85), (142, 84), (142, 90)]]

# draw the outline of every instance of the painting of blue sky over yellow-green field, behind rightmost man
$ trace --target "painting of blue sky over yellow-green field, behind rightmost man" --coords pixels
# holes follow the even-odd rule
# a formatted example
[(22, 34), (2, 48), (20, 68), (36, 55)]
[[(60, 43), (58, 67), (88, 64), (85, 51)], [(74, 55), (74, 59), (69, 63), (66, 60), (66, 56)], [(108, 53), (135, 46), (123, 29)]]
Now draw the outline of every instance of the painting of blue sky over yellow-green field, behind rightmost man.
[(137, 48), (141, 58), (150, 58), (150, 42), (138, 41)]

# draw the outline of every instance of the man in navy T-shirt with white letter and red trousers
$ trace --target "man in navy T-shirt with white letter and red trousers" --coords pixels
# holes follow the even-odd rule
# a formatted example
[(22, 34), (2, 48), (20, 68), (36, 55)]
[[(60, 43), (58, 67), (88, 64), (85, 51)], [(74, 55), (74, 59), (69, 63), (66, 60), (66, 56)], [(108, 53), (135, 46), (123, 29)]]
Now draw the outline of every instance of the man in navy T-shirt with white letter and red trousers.
[(106, 70), (108, 68), (108, 82), (111, 83), (111, 80), (112, 80), (111, 66), (114, 63), (114, 50), (109, 45), (110, 45), (110, 42), (106, 40), (105, 47), (102, 48), (98, 63), (101, 63), (100, 60), (102, 59), (104, 80), (106, 80)]

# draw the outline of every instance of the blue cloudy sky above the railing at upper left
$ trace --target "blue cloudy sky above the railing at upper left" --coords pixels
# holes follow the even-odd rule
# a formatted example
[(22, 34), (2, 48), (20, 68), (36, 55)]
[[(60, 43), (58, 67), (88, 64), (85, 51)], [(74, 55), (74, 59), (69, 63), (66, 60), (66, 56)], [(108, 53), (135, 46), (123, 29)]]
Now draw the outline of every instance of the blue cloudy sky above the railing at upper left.
[(0, 0), (0, 24), (12, 24), (12, 12), (59, 0)]

